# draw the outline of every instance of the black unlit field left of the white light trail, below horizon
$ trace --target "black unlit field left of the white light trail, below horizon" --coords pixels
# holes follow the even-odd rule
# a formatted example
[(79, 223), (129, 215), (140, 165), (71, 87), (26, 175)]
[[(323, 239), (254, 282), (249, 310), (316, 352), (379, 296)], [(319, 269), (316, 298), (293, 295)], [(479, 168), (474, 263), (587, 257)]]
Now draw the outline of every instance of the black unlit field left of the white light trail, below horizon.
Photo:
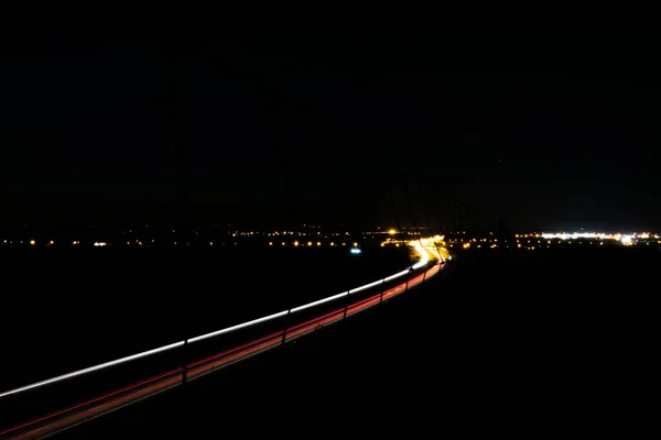
[(402, 249), (378, 246), (361, 255), (347, 248), (61, 248), (0, 257), (9, 372), (0, 391), (300, 306), (408, 264)]

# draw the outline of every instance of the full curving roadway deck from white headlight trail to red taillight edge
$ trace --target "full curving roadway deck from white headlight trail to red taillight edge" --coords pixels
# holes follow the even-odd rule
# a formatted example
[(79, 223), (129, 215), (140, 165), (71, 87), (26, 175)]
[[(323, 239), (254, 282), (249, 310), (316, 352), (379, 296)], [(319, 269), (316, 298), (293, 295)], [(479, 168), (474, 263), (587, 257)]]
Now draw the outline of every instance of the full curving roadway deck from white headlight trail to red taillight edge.
[[(340, 322), (370, 307), (386, 302), (432, 278), (445, 267), (449, 258), (447, 251), (441, 248), (440, 238), (419, 238), (407, 244), (415, 251), (418, 261), (403, 271), (382, 279), (210, 333), (3, 392), (0, 394), (3, 404), (14, 407), (23, 405), (25, 408), (30, 408), (31, 402), (48, 400), (52, 398), (50, 397), (52, 393), (67, 389), (67, 387), (85, 388), (86, 384), (90, 382), (116, 383), (116, 378), (109, 377), (121, 378), (122, 367), (136, 367), (139, 363), (153, 365), (155, 359), (155, 365), (180, 365), (107, 393), (89, 396), (85, 400), (34, 417), (29, 421), (8, 428), (3, 427), (0, 436), (17, 439), (42, 438), (167, 389), (184, 386), (206, 374), (281, 346), (323, 327)], [(224, 338), (226, 339), (225, 344), (230, 344), (231, 348), (191, 361), (192, 356), (199, 356), (204, 352), (208, 353), (209, 350), (217, 350), (223, 345), (223, 343), (218, 343), (218, 340)], [(243, 340), (243, 342), (234, 345), (237, 340)], [(140, 369), (138, 367), (138, 370)]]

